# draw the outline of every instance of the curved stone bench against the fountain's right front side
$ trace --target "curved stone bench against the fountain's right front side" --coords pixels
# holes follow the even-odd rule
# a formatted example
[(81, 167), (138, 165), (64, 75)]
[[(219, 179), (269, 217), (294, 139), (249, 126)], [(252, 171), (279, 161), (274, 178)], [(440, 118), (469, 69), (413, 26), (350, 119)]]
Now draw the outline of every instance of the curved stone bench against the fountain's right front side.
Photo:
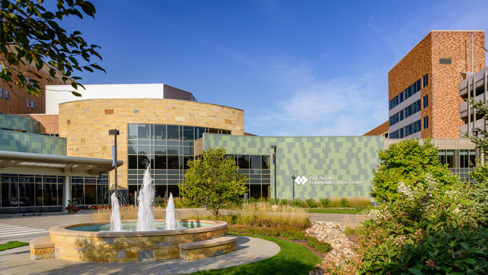
[(180, 243), (178, 249), (179, 258), (183, 260), (209, 258), (235, 251), (237, 249), (237, 237), (220, 237), (193, 243)]

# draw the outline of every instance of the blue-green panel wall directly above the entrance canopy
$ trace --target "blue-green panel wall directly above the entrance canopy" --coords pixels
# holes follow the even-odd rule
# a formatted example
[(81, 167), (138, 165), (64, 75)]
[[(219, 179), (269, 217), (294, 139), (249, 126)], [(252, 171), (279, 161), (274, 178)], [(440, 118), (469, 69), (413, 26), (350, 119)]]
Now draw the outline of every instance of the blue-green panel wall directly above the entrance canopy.
[(0, 151), (66, 155), (66, 138), (0, 130)]

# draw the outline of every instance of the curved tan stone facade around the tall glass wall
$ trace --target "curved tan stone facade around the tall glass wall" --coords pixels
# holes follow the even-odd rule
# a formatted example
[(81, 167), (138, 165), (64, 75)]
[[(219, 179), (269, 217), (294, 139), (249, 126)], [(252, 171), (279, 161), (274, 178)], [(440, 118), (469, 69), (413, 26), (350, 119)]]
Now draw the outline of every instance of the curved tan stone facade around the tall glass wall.
[[(244, 111), (237, 108), (173, 99), (88, 99), (59, 104), (59, 136), (67, 139), (68, 155), (112, 158), (113, 136), (119, 129), (117, 155), (124, 160), (118, 184), (127, 188), (127, 124), (176, 124), (230, 130), (244, 135)], [(110, 184), (114, 172), (110, 172)]]

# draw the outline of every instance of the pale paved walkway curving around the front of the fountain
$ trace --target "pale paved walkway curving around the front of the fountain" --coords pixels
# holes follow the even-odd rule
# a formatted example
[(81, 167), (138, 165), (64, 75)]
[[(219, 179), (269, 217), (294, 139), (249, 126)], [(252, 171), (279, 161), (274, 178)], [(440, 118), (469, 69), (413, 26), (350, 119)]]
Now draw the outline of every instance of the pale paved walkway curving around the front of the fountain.
[(76, 263), (68, 260), (30, 260), (27, 247), (0, 252), (0, 273), (8, 274), (190, 274), (264, 260), (280, 252), (275, 243), (237, 236), (237, 250), (229, 254), (184, 261), (159, 260), (144, 263)]

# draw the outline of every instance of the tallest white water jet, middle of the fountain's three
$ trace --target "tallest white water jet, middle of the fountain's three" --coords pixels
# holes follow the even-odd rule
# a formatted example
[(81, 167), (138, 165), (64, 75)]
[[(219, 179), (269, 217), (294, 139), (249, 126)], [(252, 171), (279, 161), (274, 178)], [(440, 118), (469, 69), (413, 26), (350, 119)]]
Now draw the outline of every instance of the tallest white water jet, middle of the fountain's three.
[(153, 179), (150, 177), (149, 167), (144, 171), (142, 187), (138, 194), (139, 211), (137, 211), (137, 231), (155, 230), (154, 213), (151, 209), (154, 201)]

